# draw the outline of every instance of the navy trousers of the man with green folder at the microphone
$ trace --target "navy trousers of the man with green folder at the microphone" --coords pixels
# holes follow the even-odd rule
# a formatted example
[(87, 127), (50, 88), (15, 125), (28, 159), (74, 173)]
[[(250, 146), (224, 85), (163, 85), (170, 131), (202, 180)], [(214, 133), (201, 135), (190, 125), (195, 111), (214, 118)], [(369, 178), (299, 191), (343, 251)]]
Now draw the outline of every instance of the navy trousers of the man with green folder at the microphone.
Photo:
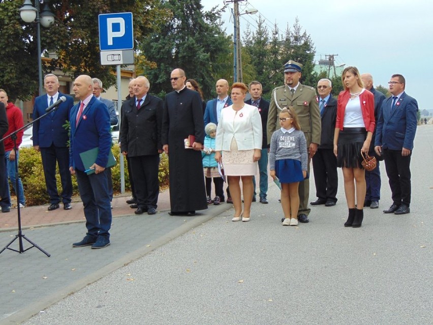
[(110, 238), (111, 206), (108, 194), (107, 169), (103, 172), (87, 175), (75, 169), (78, 190), (84, 205), (87, 234), (94, 237), (102, 235)]

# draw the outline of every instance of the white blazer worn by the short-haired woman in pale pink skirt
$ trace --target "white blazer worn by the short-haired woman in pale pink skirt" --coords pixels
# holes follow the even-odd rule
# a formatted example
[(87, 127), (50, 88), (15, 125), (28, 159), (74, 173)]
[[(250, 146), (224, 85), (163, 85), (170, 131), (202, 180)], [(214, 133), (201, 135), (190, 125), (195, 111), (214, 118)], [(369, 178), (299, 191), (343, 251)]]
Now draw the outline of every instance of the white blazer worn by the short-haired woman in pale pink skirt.
[(221, 110), (215, 150), (230, 151), (233, 137), (238, 150), (262, 149), (262, 120), (256, 106), (245, 104), (235, 111), (230, 105)]

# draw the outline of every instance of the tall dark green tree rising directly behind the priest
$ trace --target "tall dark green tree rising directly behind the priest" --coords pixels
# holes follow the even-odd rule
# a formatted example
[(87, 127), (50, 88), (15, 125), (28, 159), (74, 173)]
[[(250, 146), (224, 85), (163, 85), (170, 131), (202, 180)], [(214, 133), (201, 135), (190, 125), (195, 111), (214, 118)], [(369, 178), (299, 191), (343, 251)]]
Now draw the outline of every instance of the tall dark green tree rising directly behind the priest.
[(141, 55), (154, 67), (140, 66), (151, 82), (151, 92), (163, 97), (171, 92), (170, 72), (181, 68), (187, 78), (200, 84), (209, 98), (219, 71), (228, 70), (230, 39), (221, 28), (221, 10), (203, 12), (200, 0), (166, 0), (163, 8), (173, 14), (158, 33), (152, 33), (140, 45)]

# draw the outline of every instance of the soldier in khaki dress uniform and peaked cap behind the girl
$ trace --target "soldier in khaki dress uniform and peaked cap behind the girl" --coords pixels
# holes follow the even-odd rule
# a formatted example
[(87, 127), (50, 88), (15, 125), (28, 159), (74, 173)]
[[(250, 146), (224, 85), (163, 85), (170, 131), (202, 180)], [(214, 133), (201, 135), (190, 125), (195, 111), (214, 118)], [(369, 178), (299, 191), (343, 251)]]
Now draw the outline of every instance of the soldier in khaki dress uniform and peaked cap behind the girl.
[[(310, 174), (310, 159), (317, 151), (320, 144), (321, 117), (319, 104), (317, 102), (316, 90), (313, 87), (303, 85), (299, 82), (302, 65), (289, 61), (284, 65), (285, 85), (276, 87), (272, 91), (269, 105), (267, 133), (268, 142), (272, 137), (277, 125), (278, 114), (284, 107), (293, 106), (298, 115), (301, 130), (304, 132), (307, 141), (308, 153), (308, 174)], [(269, 144), (269, 143), (268, 143)], [(310, 181), (305, 180), (299, 183), (299, 211), (298, 220), (309, 222), (308, 196), (310, 195)]]

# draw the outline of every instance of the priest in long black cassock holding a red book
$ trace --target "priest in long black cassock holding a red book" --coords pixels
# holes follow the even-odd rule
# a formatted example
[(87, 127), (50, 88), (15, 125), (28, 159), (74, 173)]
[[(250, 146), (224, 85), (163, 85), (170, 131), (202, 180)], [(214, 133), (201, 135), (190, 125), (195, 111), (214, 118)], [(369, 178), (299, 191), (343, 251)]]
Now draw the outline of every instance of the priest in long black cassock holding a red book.
[[(194, 216), (207, 209), (201, 157), (204, 122), (200, 95), (185, 87), (186, 79), (182, 69), (171, 72), (174, 91), (165, 97), (161, 140), (168, 154), (170, 215)], [(185, 149), (189, 135), (195, 136), (193, 149)]]

